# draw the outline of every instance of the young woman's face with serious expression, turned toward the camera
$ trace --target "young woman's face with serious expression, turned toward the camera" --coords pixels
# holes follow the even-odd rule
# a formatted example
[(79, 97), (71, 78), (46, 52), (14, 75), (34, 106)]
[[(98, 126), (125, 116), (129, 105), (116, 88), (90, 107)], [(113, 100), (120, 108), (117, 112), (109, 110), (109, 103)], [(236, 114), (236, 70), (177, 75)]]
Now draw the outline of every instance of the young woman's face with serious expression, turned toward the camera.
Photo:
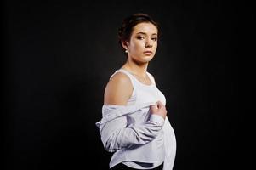
[(150, 22), (134, 26), (130, 41), (127, 42), (128, 57), (139, 63), (151, 61), (156, 54), (157, 32), (156, 26)]

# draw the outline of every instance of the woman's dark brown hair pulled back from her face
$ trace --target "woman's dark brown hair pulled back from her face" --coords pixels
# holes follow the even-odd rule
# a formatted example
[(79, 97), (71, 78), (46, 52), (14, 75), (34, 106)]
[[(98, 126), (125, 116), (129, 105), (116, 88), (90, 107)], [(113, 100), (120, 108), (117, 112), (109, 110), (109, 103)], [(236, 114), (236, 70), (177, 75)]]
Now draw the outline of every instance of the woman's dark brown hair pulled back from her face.
[(142, 22), (150, 22), (154, 26), (156, 26), (157, 31), (159, 32), (158, 24), (156, 21), (152, 20), (151, 16), (148, 14), (137, 13), (128, 16), (124, 20), (122, 20), (122, 26), (118, 29), (118, 41), (122, 47), (122, 41), (129, 41), (134, 31), (134, 26), (138, 25)]

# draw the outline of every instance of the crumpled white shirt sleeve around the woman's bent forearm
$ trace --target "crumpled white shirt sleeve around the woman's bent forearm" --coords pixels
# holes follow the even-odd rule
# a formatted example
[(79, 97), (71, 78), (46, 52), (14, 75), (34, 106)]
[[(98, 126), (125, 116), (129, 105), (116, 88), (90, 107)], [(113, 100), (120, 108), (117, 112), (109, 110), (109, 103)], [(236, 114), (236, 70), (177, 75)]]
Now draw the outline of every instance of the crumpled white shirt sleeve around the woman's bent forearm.
[[(134, 144), (146, 144), (155, 139), (162, 129), (162, 116), (152, 114), (144, 124), (128, 126), (127, 117), (120, 116), (106, 122), (100, 132), (105, 150), (114, 152)], [(128, 126), (128, 127), (127, 127)]]

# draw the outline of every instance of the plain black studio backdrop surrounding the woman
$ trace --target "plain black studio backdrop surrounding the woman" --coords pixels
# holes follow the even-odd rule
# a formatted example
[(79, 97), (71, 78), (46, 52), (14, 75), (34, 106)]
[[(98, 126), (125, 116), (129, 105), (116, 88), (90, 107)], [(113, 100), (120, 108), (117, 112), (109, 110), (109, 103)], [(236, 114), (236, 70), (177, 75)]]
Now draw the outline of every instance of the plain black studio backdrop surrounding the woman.
[(2, 8), (5, 169), (108, 169), (95, 122), (126, 59), (117, 28), (137, 12), (161, 26), (148, 71), (167, 98), (174, 169), (252, 169), (251, 4), (10, 0)]

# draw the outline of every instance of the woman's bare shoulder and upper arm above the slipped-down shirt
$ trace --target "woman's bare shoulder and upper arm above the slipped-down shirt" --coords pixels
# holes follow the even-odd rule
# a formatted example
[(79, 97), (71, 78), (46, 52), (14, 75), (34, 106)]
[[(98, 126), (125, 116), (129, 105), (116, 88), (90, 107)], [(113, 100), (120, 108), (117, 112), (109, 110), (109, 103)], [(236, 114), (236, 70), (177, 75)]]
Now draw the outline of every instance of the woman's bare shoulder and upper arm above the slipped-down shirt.
[(122, 72), (117, 72), (106, 84), (104, 104), (127, 105), (132, 93), (133, 85), (130, 78)]

